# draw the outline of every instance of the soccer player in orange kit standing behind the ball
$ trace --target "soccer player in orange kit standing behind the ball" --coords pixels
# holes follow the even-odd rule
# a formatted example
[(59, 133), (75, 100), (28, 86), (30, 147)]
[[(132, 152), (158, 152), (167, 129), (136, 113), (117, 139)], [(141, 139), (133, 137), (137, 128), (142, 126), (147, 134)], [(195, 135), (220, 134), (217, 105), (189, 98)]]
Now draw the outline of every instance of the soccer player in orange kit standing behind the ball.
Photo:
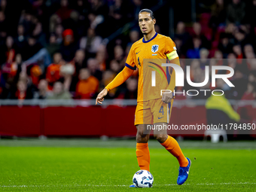
[[(126, 59), (126, 66), (104, 90), (102, 90), (96, 98), (96, 104), (102, 104), (104, 96), (109, 90), (123, 84), (131, 75), (133, 70), (139, 69), (138, 82), (138, 98), (136, 107), (135, 125), (137, 128), (136, 134), (136, 157), (140, 169), (149, 171), (150, 154), (148, 150), (148, 132), (147, 125), (154, 123), (154, 126), (167, 126), (172, 109), (172, 93), (163, 93), (160, 96), (160, 90), (174, 90), (175, 88), (175, 71), (170, 68), (162, 67), (156, 62), (156, 59), (166, 60), (167, 58), (172, 63), (179, 64), (178, 54), (176, 52), (175, 43), (171, 38), (157, 34), (154, 29), (156, 20), (154, 14), (149, 9), (142, 9), (139, 12), (139, 27), (142, 31), (143, 38), (136, 41), (130, 49), (130, 53)], [(151, 60), (149, 60), (151, 59)], [(146, 62), (148, 61), (148, 62)], [(153, 61), (153, 62), (152, 62)], [(157, 71), (158, 81), (154, 87), (151, 86), (151, 75), (153, 71)], [(170, 74), (171, 73), (171, 74)], [(167, 74), (170, 74), (168, 83)], [(163, 77), (166, 77), (163, 78)], [(161, 81), (159, 81), (161, 79)], [(164, 89), (163, 89), (164, 88)], [(153, 130), (153, 129), (152, 129)], [(179, 172), (177, 184), (184, 184), (187, 180), (191, 161), (184, 157), (181, 148), (171, 136), (167, 135), (166, 130), (154, 130), (154, 138), (177, 158), (179, 163)], [(131, 185), (130, 187), (136, 187)]]

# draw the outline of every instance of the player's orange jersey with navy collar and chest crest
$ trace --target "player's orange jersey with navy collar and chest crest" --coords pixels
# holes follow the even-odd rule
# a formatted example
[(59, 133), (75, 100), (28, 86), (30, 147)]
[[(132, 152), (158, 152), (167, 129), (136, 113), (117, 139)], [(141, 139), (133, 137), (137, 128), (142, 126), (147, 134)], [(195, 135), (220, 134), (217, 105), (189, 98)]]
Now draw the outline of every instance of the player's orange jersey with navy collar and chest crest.
[[(168, 58), (178, 58), (175, 43), (164, 35), (154, 35), (149, 41), (141, 38), (130, 49), (126, 59), (126, 67), (139, 69), (137, 102), (162, 98), (161, 90), (173, 90), (175, 87), (175, 71), (170, 67), (162, 67)], [(179, 62), (178, 62), (179, 65)], [(156, 75), (155, 87), (151, 85), (152, 72)]]

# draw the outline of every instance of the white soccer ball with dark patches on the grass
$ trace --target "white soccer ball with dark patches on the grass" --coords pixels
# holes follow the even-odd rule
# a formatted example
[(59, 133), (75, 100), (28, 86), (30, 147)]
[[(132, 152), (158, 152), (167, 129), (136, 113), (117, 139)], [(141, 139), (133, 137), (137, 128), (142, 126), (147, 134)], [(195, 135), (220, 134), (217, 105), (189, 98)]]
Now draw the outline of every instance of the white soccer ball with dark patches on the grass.
[(147, 170), (139, 170), (133, 175), (133, 184), (136, 187), (152, 187), (153, 175)]

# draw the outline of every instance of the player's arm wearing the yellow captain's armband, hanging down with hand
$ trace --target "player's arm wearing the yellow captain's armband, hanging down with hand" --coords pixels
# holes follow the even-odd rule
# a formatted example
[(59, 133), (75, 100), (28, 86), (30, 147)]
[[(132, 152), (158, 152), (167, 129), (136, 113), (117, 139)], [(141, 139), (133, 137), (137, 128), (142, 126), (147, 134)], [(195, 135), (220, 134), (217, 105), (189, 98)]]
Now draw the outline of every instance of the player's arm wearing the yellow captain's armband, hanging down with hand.
[[(168, 41), (166, 42), (166, 56), (169, 59), (169, 61), (172, 64), (176, 64), (178, 66), (181, 66), (178, 58), (177, 49), (175, 47), (175, 43), (172, 41), (171, 38), (168, 38)], [(170, 69), (170, 67), (169, 67)], [(167, 87), (167, 90), (171, 90), (172, 93), (175, 89), (175, 70), (172, 70), (171, 74), (171, 80), (169, 82), (169, 86)], [(172, 93), (163, 93), (162, 101), (169, 103), (172, 101)]]

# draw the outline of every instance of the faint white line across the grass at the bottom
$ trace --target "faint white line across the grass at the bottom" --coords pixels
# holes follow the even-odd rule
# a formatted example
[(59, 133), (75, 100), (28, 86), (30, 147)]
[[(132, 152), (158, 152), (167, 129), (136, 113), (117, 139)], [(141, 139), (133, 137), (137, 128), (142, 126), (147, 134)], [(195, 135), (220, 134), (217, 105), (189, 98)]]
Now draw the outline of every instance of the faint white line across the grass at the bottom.
[[(183, 185), (230, 185), (230, 184), (256, 184), (256, 183), (198, 183), (198, 184), (183, 184)], [(175, 186), (177, 184), (154, 184), (153, 186)], [(129, 185), (125, 184), (117, 184), (117, 185), (105, 185), (105, 184), (84, 184), (84, 185), (0, 185), (0, 187), (129, 187)]]

